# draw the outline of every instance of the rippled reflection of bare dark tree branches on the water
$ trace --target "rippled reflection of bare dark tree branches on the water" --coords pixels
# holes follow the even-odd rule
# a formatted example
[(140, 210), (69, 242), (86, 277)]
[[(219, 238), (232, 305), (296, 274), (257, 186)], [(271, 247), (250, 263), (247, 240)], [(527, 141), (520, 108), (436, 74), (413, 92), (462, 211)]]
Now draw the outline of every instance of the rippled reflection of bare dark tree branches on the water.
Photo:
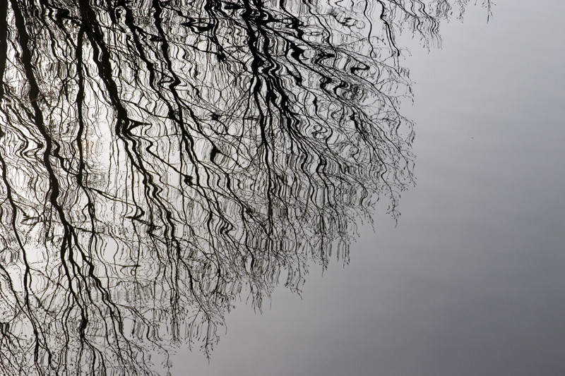
[(150, 374), (347, 261), (412, 183), (395, 37), (452, 5), (0, 0), (0, 373)]

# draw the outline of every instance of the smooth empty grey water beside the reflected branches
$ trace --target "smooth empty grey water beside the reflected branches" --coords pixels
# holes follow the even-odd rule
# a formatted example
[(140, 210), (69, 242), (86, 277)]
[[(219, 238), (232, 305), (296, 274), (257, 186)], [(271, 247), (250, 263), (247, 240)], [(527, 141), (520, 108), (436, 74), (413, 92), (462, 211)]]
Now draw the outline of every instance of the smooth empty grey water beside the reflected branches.
[(350, 265), (312, 269), (263, 315), (244, 302), (210, 363), (173, 375), (565, 375), (562, 1), (470, 6), (412, 56), (417, 186)]

